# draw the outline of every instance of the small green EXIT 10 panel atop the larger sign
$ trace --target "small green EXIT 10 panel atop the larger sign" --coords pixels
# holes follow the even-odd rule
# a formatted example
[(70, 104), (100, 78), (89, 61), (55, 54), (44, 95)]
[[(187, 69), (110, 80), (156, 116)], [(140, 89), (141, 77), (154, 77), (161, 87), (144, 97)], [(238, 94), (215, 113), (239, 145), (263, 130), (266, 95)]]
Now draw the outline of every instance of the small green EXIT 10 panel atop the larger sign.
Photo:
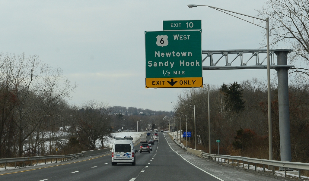
[(163, 30), (202, 30), (202, 20), (163, 21)]

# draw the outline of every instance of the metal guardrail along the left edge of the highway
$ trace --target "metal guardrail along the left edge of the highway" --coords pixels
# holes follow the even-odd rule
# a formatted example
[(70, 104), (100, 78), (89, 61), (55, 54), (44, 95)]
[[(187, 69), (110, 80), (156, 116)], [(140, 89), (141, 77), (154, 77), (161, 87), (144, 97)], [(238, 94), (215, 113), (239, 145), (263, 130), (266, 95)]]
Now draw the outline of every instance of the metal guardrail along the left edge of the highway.
[(46, 164), (46, 159), (50, 159), (50, 162), (52, 162), (52, 159), (60, 158), (60, 162), (65, 160), (71, 160), (75, 157), (81, 157), (84, 156), (84, 153), (77, 153), (77, 154), (66, 154), (66, 155), (46, 155), (46, 156), (36, 156), (36, 157), (19, 157), (19, 158), (1, 158), (0, 163), (4, 163), (4, 169), (6, 170), (6, 163), (15, 162), (15, 168), (16, 168), (16, 162), (23, 162), (23, 167), (25, 167), (25, 161), (32, 161), (36, 160), (36, 165), (38, 164), (39, 160), (44, 160)]

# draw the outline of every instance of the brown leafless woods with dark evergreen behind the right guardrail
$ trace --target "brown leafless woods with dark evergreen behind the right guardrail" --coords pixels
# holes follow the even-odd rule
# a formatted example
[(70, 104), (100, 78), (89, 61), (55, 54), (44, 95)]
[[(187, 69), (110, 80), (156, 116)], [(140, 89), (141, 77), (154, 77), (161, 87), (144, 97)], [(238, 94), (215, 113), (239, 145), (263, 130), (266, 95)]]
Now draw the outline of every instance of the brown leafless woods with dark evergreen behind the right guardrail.
[[(290, 81), (290, 129), (292, 161), (308, 162), (309, 85), (306, 79)], [(280, 160), (278, 89), (272, 85), (273, 158)], [(210, 86), (211, 152), (268, 159), (267, 86), (256, 78), (241, 83)], [(195, 105), (198, 148), (209, 151), (207, 89), (187, 89), (178, 102)], [(194, 148), (193, 109), (175, 105), (176, 113), (187, 115), (188, 131), (192, 131)], [(177, 115), (175, 115), (177, 116)], [(178, 115), (179, 116), (179, 115)], [(185, 130), (185, 125), (181, 124)]]

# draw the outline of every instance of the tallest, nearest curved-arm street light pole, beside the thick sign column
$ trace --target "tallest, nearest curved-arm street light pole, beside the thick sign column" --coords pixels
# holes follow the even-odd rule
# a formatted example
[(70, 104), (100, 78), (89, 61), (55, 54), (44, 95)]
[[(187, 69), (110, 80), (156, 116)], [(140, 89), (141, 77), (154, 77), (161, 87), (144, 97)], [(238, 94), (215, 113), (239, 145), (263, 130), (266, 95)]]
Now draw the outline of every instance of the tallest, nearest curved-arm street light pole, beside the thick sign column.
[[(240, 14), (240, 15), (243, 15), (243, 16), (247, 16), (247, 17), (251, 17), (252, 18), (252, 24), (253, 23), (253, 19), (259, 19), (259, 20), (262, 20), (262, 21), (265, 21), (266, 22), (266, 28), (265, 27), (262, 27), (260, 25), (257, 25), (257, 24), (254, 24), (256, 26), (259, 26), (259, 27), (262, 27), (264, 29), (266, 29), (266, 47), (267, 47), (267, 98), (268, 98), (268, 151), (269, 151), (269, 159), (272, 160), (273, 159), (273, 133), (272, 133), (272, 120), (271, 120), (271, 95), (270, 95), (270, 62), (269, 62), (269, 22), (268, 22), (268, 18), (266, 19), (261, 19), (261, 18), (257, 18), (257, 17), (254, 17), (254, 16), (249, 16), (249, 15), (246, 15), (246, 14), (241, 14), (241, 13), (236, 13), (234, 11), (230, 11), (230, 10), (225, 10), (225, 9), (221, 9), (221, 8), (217, 8), (217, 7), (213, 7), (213, 6), (208, 6), (208, 5), (197, 5), (197, 4), (188, 4), (188, 7), (189, 8), (193, 8), (193, 7), (197, 7), (197, 6), (207, 6), (207, 7), (210, 7), (212, 9), (215, 9), (215, 10), (218, 10), (218, 11), (221, 11), (222, 13), (226, 13), (224, 11), (227, 11), (227, 12), (231, 12), (231, 13), (235, 13), (235, 14)], [(229, 13), (226, 13), (226, 14), (229, 14)], [(234, 16), (232, 14), (229, 14), (231, 16)], [(238, 18), (238, 19), (241, 19), (241, 20), (244, 20), (248, 23), (251, 23), (250, 21), (247, 21), (245, 19), (242, 19), (242, 18), (239, 18), (237, 16), (234, 16), (235, 18)]]

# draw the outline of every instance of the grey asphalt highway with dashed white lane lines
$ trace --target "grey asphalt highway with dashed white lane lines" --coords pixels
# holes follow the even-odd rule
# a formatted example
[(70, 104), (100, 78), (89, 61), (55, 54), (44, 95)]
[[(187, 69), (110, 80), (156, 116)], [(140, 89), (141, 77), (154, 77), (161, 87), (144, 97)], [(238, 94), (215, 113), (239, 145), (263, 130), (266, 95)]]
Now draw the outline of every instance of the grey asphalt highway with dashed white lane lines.
[[(153, 134), (153, 133), (152, 133)], [(151, 137), (147, 137), (149, 140)], [(140, 143), (135, 145), (139, 150)], [(222, 166), (181, 150), (168, 134), (159, 133), (151, 153), (136, 153), (136, 165), (111, 165), (111, 154), (70, 160), (33, 169), (0, 172), (0, 180), (32, 181), (148, 181), (148, 180), (282, 180)]]

